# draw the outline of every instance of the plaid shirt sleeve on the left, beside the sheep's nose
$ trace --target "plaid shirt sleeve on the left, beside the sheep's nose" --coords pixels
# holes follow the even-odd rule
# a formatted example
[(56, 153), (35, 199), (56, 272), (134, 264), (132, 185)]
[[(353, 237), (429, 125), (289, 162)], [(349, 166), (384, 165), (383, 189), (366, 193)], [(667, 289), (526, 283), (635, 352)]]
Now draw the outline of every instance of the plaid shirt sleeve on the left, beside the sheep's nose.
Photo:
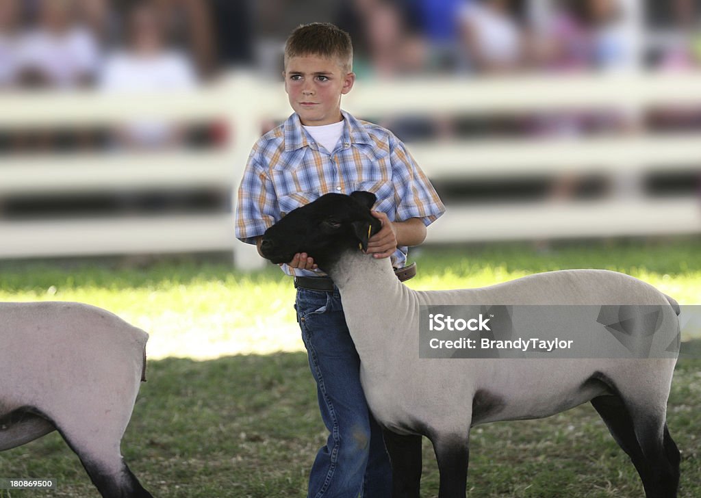
[(236, 238), (255, 244), (257, 237), (278, 221), (278, 204), (273, 183), (261, 167), (256, 148), (248, 158), (236, 201)]

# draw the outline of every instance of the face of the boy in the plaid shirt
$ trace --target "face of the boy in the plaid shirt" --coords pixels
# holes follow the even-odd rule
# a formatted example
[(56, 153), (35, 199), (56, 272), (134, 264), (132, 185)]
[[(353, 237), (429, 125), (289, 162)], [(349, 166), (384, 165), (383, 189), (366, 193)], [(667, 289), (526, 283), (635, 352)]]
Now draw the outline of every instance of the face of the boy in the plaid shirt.
[(285, 64), (285, 92), (303, 125), (321, 126), (341, 120), (341, 95), (351, 91), (355, 74), (335, 58), (290, 57)]

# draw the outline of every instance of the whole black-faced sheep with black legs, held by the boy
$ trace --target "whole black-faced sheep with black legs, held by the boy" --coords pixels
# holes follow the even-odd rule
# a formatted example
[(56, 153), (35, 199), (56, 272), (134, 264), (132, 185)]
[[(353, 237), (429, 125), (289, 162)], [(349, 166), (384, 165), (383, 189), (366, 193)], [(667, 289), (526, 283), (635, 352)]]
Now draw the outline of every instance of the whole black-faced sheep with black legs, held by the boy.
[[(273, 263), (306, 252), (339, 289), (360, 356), (369, 408), (383, 427), (393, 497), (418, 497), (421, 437), (433, 443), (441, 498), (464, 497), (470, 427), (547, 417), (591, 401), (637, 469), (646, 497), (676, 497), (680, 454), (666, 408), (678, 350), (644, 359), (427, 359), (418, 355), (426, 305), (655, 305), (679, 338), (679, 305), (649, 284), (606, 270), (562, 270), (480, 289), (414, 291), (389, 258), (361, 249), (380, 228), (372, 193), (329, 193), (268, 228)], [(360, 248), (359, 248), (360, 246)], [(603, 308), (602, 308), (603, 309)], [(678, 345), (678, 343), (677, 343)]]

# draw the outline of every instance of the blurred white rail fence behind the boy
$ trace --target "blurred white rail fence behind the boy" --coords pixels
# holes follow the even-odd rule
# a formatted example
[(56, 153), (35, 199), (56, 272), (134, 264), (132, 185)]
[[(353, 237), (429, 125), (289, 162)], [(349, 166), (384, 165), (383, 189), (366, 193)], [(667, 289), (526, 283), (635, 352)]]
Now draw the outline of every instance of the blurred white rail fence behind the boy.
[[(508, 79), (450, 79), (356, 84), (343, 107), (358, 116), (411, 113), (468, 114), (557, 109), (624, 109), (701, 104), (701, 75), (529, 76)], [(238, 184), (264, 118), (290, 113), (282, 84), (232, 75), (217, 85), (186, 94), (0, 95), (0, 127), (109, 125), (135, 118), (224, 120), (232, 139), (219, 151), (163, 154), (50, 155), (4, 159), (0, 198), (6, 195), (138, 191), (154, 187), (213, 187)], [(518, 174), (564, 172), (608, 177), (640, 176), (660, 164), (700, 169), (701, 132), (557, 141), (494, 140), (408, 144), (434, 180), (498, 179)], [(597, 201), (449, 205), (430, 228), (429, 241), (543, 239), (701, 233), (696, 198), (651, 199), (613, 196)], [(233, 237), (230, 213), (134, 218), (0, 219), (0, 258), (233, 250), (236, 263), (253, 268), (260, 259)]]

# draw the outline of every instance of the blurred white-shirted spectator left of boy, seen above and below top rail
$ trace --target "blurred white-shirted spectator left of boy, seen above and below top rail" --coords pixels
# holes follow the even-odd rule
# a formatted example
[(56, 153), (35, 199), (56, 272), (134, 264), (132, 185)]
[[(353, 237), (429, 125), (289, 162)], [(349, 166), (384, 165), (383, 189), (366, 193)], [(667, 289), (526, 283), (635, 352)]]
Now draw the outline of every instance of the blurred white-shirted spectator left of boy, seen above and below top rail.
[[(101, 87), (109, 91), (189, 90), (197, 82), (189, 57), (168, 48), (163, 18), (155, 4), (139, 4), (128, 14), (128, 48), (111, 55)], [(158, 120), (141, 120), (116, 131), (116, 144), (125, 148), (158, 149), (182, 144), (182, 127)]]

